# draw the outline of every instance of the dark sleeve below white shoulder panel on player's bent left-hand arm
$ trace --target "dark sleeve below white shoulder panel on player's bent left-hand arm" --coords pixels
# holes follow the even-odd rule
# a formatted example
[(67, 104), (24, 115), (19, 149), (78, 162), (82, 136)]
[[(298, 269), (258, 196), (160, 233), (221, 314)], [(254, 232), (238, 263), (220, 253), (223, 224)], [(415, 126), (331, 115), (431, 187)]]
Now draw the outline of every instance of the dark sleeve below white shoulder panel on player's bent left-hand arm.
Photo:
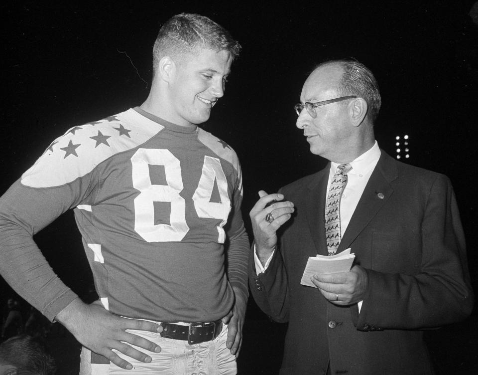
[(33, 235), (74, 205), (71, 186), (31, 188), (15, 182), (0, 198), (0, 272), (33, 307), (53, 320), (74, 298)]

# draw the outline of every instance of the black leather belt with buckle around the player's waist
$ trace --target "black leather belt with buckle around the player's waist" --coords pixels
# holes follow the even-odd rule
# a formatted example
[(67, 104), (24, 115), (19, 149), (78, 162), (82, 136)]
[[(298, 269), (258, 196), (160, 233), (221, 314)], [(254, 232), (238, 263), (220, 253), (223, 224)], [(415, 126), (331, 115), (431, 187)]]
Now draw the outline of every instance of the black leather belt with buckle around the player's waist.
[(188, 326), (181, 326), (174, 323), (161, 323), (163, 332), (161, 337), (173, 340), (187, 340), (188, 344), (199, 344), (214, 340), (223, 329), (221, 319), (211, 323), (190, 323)]

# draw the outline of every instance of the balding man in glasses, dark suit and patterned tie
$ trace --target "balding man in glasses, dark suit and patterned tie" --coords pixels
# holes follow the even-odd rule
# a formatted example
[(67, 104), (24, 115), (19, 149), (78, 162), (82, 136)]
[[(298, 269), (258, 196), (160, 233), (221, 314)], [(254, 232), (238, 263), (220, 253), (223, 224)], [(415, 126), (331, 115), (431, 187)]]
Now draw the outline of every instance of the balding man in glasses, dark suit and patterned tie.
[[(320, 64), (300, 99), (297, 127), (330, 163), (279, 193), (259, 191), (250, 211), (252, 294), (289, 322), (280, 374), (433, 374), (423, 329), (473, 307), (450, 181), (378, 148), (380, 94), (363, 64)], [(349, 272), (301, 285), (309, 257), (349, 247)]]

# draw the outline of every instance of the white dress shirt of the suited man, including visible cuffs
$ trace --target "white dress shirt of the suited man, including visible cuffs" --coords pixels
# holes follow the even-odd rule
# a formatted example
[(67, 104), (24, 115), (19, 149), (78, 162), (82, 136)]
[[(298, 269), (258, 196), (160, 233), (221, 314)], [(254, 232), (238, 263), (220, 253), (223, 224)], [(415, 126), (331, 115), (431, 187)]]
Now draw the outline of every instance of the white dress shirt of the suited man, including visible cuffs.
[[(348, 182), (344, 188), (342, 193), (342, 197), (340, 200), (340, 227), (341, 227), (341, 234), (342, 237), (344, 236), (347, 227), (349, 226), (350, 219), (354, 214), (355, 209), (357, 208), (357, 204), (359, 203), (360, 197), (362, 196), (363, 190), (370, 179), (370, 176), (375, 169), (375, 166), (378, 163), (378, 159), (380, 158), (380, 149), (378, 147), (377, 141), (375, 144), (362, 155), (360, 155), (357, 159), (350, 162), (349, 164), (352, 166), (352, 169), (347, 174)], [(327, 191), (329, 191), (330, 183), (332, 178), (337, 172), (337, 167), (340, 166), (340, 163), (331, 162), (330, 163), (330, 171), (329, 171), (329, 182), (327, 184)], [(354, 249), (352, 249), (352, 252)], [(255, 271), (257, 275), (259, 273), (264, 272), (267, 267), (269, 266), (270, 260), (274, 252), (272, 252), (269, 259), (267, 259), (264, 266), (260, 262), (254, 248), (254, 264), (255, 264)], [(361, 307), (361, 302), (359, 302), (359, 311)]]

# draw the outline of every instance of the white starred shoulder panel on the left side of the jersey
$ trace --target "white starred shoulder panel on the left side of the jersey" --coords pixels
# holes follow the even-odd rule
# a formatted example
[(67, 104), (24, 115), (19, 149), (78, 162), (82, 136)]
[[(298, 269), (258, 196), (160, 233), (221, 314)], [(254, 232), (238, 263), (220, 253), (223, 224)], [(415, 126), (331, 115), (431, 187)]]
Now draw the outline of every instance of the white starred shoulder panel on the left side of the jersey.
[(75, 126), (55, 139), (21, 177), (29, 187), (57, 187), (93, 171), (118, 153), (131, 150), (164, 127), (128, 109), (118, 115)]

